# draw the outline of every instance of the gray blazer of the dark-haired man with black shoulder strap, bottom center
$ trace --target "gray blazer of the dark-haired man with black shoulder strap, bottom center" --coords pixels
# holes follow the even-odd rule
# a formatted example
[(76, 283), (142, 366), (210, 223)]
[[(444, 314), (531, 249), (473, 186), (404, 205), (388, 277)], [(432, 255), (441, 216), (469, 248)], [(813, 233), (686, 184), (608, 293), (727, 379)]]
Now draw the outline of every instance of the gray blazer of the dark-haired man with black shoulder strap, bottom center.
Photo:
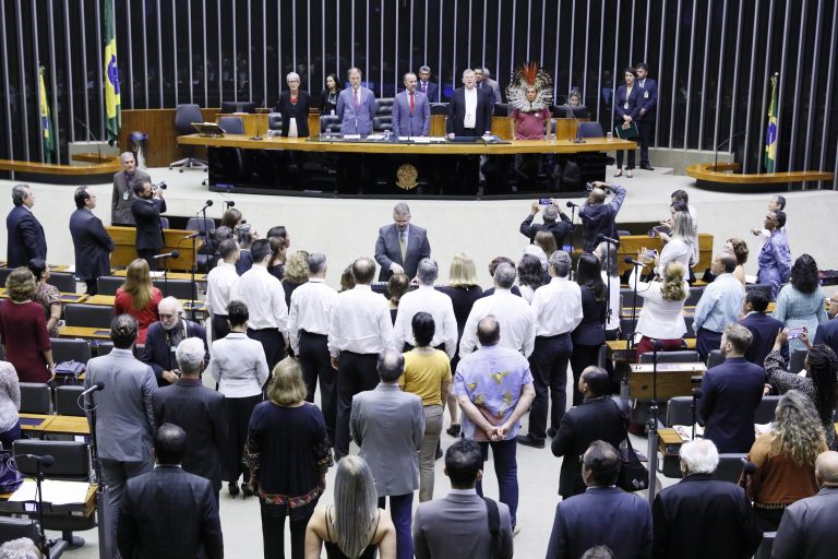
[[(498, 559), (512, 557), (510, 508), (499, 502), (501, 549)], [(414, 516), (414, 554), (417, 559), (492, 557), (492, 535), (486, 501), (474, 490), (452, 490), (442, 499), (419, 504)]]

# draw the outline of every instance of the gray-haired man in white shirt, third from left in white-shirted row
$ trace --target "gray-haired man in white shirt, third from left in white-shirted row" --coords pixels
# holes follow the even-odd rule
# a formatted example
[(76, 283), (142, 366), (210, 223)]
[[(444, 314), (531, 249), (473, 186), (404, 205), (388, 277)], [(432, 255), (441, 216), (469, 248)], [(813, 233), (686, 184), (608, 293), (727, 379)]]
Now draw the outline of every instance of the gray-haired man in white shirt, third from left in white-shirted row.
[(302, 379), (306, 381), (306, 401), (314, 402), (314, 391), (320, 379), (320, 408), (326, 420), (328, 440), (335, 440), (337, 400), (335, 394), (336, 371), (328, 355), (328, 322), (332, 308), (337, 302), (337, 292), (326, 285), (326, 255), (309, 254), (308, 283), (291, 293), (288, 310), (288, 337), (294, 355), (300, 360)]

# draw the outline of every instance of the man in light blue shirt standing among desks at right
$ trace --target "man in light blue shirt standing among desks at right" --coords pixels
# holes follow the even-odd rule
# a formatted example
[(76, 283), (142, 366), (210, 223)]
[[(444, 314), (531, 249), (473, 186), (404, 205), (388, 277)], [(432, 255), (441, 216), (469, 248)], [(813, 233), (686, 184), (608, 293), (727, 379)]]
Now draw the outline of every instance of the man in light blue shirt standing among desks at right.
[(745, 289), (742, 283), (733, 277), (735, 267), (735, 254), (728, 251), (716, 254), (710, 266), (710, 273), (716, 280), (705, 287), (698, 305), (695, 306), (695, 350), (702, 359), (706, 359), (713, 349), (719, 348), (725, 326), (739, 320)]

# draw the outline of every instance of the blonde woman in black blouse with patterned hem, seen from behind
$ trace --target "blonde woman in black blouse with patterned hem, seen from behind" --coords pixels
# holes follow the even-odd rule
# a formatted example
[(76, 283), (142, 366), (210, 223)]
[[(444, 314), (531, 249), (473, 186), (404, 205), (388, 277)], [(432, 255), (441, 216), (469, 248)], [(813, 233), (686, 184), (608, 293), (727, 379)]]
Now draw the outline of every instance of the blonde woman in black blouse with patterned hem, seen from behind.
[(250, 487), (259, 493), (264, 557), (285, 557), (285, 519), (290, 519), (291, 557), (302, 559), (306, 526), (326, 487), (332, 449), (323, 414), (306, 402), (297, 359), (274, 367), (268, 401), (253, 409), (244, 447)]

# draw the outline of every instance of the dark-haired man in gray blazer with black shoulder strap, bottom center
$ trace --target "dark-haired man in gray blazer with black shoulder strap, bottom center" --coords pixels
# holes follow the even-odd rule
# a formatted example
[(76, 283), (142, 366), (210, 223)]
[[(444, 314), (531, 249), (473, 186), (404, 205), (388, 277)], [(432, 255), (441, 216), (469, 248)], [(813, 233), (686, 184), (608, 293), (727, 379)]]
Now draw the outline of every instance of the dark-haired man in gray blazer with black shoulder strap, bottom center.
[[(445, 475), (451, 492), (419, 504), (414, 518), (414, 550), (417, 559), (460, 559), (463, 557), (512, 557), (510, 508), (498, 507), (498, 536), (490, 532), (487, 500), (477, 495), (475, 484), (483, 477), (483, 456), (475, 441), (458, 440), (445, 452)], [(494, 554), (492, 552), (494, 551)]]

